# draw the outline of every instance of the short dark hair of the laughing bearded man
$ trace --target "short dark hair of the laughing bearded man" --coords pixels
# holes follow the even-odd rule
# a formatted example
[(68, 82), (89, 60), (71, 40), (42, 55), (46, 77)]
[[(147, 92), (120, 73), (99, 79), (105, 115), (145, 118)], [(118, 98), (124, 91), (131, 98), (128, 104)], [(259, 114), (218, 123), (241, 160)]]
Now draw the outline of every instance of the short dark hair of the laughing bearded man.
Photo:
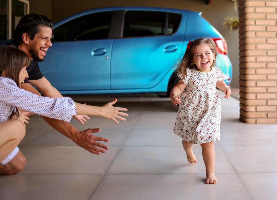
[(50, 27), (53, 28), (53, 22), (44, 15), (40, 14), (27, 14), (24, 15), (18, 25), (15, 28), (13, 39), (16, 45), (23, 42), (22, 35), (27, 33), (30, 39), (33, 40), (35, 34), (40, 32), (40, 27)]

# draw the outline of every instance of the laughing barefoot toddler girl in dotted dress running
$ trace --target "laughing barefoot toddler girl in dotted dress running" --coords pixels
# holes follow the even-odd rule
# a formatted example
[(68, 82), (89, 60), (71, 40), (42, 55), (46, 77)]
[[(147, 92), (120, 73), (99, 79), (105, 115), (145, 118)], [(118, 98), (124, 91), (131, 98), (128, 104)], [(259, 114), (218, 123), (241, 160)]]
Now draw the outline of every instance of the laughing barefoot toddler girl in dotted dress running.
[[(180, 81), (172, 88), (170, 99), (179, 104), (174, 133), (180, 136), (188, 162), (196, 163), (193, 144), (202, 147), (206, 166), (206, 184), (216, 183), (214, 173), (214, 141), (220, 139), (221, 103), (218, 90), (229, 98), (231, 90), (223, 81), (226, 76), (214, 66), (216, 44), (211, 38), (200, 38), (188, 43), (183, 59), (177, 67)], [(186, 89), (186, 90), (185, 90)]]

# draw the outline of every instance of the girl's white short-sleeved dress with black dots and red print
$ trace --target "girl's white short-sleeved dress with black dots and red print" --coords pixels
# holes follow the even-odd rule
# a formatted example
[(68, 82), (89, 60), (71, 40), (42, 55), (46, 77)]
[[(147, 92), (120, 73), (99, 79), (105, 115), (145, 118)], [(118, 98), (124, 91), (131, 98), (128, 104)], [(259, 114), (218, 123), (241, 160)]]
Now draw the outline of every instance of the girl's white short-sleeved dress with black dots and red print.
[(220, 139), (221, 103), (216, 83), (226, 79), (219, 67), (209, 72), (186, 69), (187, 75), (179, 78), (187, 85), (181, 93), (181, 104), (174, 133), (194, 144)]

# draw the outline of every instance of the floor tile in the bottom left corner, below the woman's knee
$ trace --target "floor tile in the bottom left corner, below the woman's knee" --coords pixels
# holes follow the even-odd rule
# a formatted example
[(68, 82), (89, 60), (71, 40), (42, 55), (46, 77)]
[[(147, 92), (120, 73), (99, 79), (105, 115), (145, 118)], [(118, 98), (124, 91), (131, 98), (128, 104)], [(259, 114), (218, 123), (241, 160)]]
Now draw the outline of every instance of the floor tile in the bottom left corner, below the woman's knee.
[(103, 175), (58, 174), (0, 176), (0, 199), (87, 200)]

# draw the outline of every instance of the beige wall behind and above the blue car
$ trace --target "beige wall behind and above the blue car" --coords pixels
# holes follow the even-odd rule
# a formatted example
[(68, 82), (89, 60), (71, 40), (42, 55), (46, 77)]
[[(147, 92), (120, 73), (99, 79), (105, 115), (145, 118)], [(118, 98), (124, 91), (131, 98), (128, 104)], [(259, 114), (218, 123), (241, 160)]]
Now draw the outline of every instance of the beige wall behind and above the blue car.
[[(35, 3), (36, 2), (36, 3)], [(51, 3), (52, 2), (52, 3)], [(207, 0), (59, 0), (59, 1), (36, 1), (30, 0), (30, 12), (37, 12), (49, 16), (54, 22), (69, 15), (92, 8), (108, 6), (157, 6), (168, 8), (179, 8), (203, 12), (202, 16), (209, 21), (225, 38), (228, 44), (229, 58), (233, 64), (232, 87), (239, 87), (239, 36), (238, 31), (229, 33), (229, 29), (223, 29), (224, 17), (238, 16), (234, 9), (234, 2), (231, 0), (213, 0), (212, 5), (207, 5)], [(32, 6), (33, 4), (34, 6)], [(48, 10), (49, 5), (51, 9)], [(35, 7), (40, 6), (35, 10)], [(45, 9), (47, 8), (47, 9)], [(205, 28), (205, 27), (203, 27)]]

